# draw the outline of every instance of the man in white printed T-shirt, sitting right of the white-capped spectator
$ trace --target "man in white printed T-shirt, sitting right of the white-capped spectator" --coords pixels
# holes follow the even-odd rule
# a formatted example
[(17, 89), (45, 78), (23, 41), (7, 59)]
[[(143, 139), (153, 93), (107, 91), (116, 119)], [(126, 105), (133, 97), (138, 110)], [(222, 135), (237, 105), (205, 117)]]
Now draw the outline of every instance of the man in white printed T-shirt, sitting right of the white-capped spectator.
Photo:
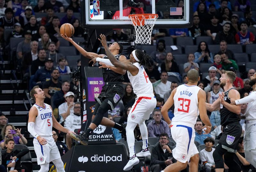
[[(70, 113), (66, 120), (64, 121), (64, 127), (67, 128), (70, 131), (75, 131), (76, 129), (81, 128), (81, 105), (80, 102), (76, 102), (74, 104), (74, 112)], [(121, 133), (119, 133), (121, 135)], [(121, 139), (121, 137), (120, 137)], [(66, 143), (68, 146), (68, 150), (71, 149), (72, 147), (72, 138), (71, 136), (67, 133), (66, 134)]]

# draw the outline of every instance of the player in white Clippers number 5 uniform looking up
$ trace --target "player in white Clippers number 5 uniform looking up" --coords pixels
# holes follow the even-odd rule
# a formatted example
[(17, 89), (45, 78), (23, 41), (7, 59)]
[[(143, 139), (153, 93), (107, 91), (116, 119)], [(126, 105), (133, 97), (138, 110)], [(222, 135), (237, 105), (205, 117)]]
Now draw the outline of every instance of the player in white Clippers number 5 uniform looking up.
[(65, 172), (60, 152), (52, 138), (52, 126), (65, 133), (73, 133), (57, 122), (52, 115), (52, 107), (44, 103), (44, 91), (39, 86), (33, 87), (30, 96), (36, 101), (31, 107), (28, 117), (28, 132), (34, 136), (33, 144), (36, 152), (38, 172), (48, 172), (52, 161), (58, 172)]

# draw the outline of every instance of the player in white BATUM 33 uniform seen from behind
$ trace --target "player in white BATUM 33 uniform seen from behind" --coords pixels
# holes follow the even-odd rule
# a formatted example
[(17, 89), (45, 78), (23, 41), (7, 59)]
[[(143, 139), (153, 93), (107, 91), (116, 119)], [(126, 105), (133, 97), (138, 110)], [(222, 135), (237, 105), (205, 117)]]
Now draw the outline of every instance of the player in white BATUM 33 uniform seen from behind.
[[(176, 142), (172, 155), (177, 163), (167, 166), (163, 170), (165, 172), (178, 172), (185, 169), (189, 160), (189, 171), (198, 171), (199, 155), (194, 143), (194, 126), (197, 116), (200, 114), (200, 118), (205, 124), (204, 127), (206, 127), (206, 133), (209, 133), (212, 128), (206, 113), (205, 92), (196, 86), (200, 80), (198, 71), (195, 69), (189, 70), (187, 80), (187, 84), (180, 85), (172, 91), (161, 109), (164, 120), (171, 127), (172, 138)], [(173, 104), (175, 109), (171, 121), (168, 117), (168, 111)]]

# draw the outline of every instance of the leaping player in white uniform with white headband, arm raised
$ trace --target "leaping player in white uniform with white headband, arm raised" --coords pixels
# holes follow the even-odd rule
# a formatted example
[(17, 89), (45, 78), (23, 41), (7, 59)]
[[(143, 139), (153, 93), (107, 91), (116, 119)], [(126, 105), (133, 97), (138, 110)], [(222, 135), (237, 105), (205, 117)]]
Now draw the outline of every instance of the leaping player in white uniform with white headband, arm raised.
[[(149, 118), (156, 107), (156, 97), (153, 94), (153, 86), (148, 78), (143, 65), (149, 65), (150, 57), (144, 54), (141, 50), (134, 50), (130, 55), (130, 60), (118, 61), (115, 56), (110, 52), (105, 35), (100, 35), (99, 39), (105, 48), (108, 59), (111, 63), (118, 68), (127, 70), (129, 80), (132, 84), (133, 91), (137, 95), (135, 103), (127, 118), (126, 137), (129, 147), (130, 160), (124, 167), (124, 170), (130, 170), (132, 167), (139, 163), (138, 157), (149, 156), (148, 149), (148, 129), (145, 120)], [(95, 59), (92, 59), (95, 62)], [(143, 146), (142, 150), (135, 155), (134, 151), (134, 134), (133, 131), (136, 125), (140, 126), (140, 133), (142, 136)]]

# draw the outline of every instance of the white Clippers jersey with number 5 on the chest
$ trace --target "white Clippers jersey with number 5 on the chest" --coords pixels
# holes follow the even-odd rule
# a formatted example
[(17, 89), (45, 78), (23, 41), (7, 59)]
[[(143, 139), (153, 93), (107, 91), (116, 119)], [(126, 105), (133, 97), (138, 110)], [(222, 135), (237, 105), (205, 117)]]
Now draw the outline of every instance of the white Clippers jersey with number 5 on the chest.
[(35, 131), (39, 136), (52, 136), (52, 109), (49, 104), (44, 104), (45, 108), (34, 104), (38, 111), (36, 122), (34, 125)]

